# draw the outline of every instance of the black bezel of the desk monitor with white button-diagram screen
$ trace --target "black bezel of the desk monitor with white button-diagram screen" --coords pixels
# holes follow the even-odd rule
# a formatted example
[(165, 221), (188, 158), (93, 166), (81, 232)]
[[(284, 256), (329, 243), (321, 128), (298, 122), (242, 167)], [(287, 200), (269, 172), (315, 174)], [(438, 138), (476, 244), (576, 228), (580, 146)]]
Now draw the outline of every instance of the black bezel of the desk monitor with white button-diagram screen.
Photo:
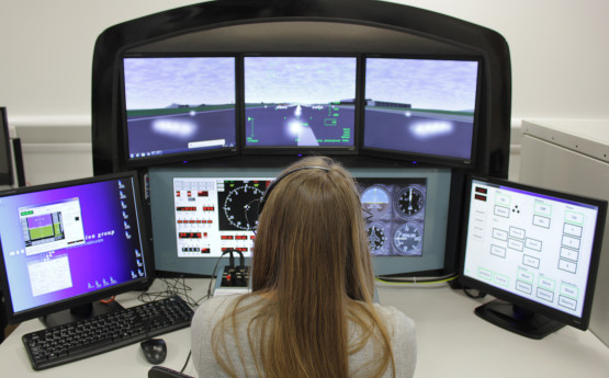
[[(588, 205), (598, 207), (597, 226), (596, 226), (596, 232), (593, 241), (593, 251), (590, 253), (588, 280), (586, 285), (587, 287), (586, 287), (586, 294), (584, 298), (584, 306), (583, 306), (580, 318), (553, 309), (549, 306), (543, 306), (539, 302), (520, 297), (518, 295), (503, 290), (498, 287), (488, 285), (482, 280), (474, 279), (470, 276), (464, 275), (465, 255), (466, 255), (466, 245), (467, 245), (467, 225), (470, 220), (469, 209), (470, 209), (471, 195), (472, 195), (472, 182), (474, 180), (483, 181), (492, 185), (506, 185), (506, 186), (510, 186), (522, 191), (534, 192), (541, 195), (559, 197), (562, 199), (573, 201), (573, 202), (588, 204)], [(473, 175), (473, 174), (467, 175), (466, 177), (463, 199), (464, 199), (463, 201), (463, 234), (462, 234), (462, 244), (461, 244), (461, 256), (460, 256), (461, 259), (460, 259), (460, 266), (459, 266), (460, 283), (466, 288), (478, 289), (480, 291), (492, 295), (499, 300), (505, 300), (520, 308), (538, 312), (540, 314), (543, 314), (550, 319), (554, 319), (564, 324), (577, 328), (583, 331), (587, 330), (590, 321), (596, 279), (598, 276), (598, 266), (600, 261), (602, 237), (604, 237), (605, 222), (607, 217), (607, 201), (586, 197), (577, 194), (557, 192), (557, 191), (548, 190), (539, 186), (515, 183), (515, 182), (492, 177), (492, 176)]]

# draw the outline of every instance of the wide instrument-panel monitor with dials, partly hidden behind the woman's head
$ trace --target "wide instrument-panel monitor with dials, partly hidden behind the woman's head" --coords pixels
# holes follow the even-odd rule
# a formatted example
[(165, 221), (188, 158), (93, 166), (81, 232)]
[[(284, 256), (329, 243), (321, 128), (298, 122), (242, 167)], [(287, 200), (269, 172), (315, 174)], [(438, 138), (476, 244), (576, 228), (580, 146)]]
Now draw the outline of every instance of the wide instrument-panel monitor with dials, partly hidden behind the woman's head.
[[(149, 170), (155, 265), (211, 276), (222, 254), (251, 256), (258, 204), (280, 168)], [(444, 267), (450, 169), (352, 168), (376, 275)], [(429, 201), (428, 198), (432, 198)], [(331, 230), (329, 230), (331, 231)]]

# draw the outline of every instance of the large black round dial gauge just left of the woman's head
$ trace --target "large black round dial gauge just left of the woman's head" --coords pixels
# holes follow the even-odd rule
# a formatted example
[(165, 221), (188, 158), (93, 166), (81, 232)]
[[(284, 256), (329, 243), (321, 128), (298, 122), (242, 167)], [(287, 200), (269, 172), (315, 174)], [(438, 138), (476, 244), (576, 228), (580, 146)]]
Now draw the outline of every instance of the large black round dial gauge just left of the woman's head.
[(264, 192), (247, 183), (226, 195), (224, 214), (230, 225), (240, 230), (255, 230), (258, 226), (258, 204)]

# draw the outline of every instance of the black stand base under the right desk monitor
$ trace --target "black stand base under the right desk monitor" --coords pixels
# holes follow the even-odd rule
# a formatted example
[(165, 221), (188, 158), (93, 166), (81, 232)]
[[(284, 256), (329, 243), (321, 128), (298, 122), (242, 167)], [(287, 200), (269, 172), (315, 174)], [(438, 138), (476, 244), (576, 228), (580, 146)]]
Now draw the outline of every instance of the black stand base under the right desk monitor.
[(482, 319), (521, 336), (540, 340), (565, 324), (499, 299), (477, 307)]

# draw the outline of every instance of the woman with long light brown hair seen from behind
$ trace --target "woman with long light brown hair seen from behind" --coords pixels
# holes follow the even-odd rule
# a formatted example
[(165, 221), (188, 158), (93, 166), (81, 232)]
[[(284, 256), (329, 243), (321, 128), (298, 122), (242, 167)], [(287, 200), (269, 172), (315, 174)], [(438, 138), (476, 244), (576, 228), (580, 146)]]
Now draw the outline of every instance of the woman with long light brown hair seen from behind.
[(373, 303), (360, 196), (328, 158), (304, 158), (261, 205), (252, 293), (204, 302), (192, 321), (201, 377), (411, 377), (414, 322)]

